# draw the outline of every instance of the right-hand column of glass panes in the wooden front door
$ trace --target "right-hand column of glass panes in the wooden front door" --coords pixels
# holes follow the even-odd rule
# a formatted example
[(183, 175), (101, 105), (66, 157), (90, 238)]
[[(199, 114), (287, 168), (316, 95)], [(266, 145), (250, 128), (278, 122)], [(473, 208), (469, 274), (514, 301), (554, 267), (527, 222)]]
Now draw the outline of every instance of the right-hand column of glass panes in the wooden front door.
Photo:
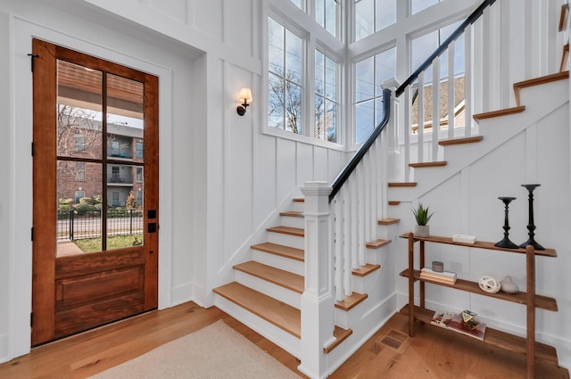
[(143, 244), (143, 83), (107, 75), (107, 246)]

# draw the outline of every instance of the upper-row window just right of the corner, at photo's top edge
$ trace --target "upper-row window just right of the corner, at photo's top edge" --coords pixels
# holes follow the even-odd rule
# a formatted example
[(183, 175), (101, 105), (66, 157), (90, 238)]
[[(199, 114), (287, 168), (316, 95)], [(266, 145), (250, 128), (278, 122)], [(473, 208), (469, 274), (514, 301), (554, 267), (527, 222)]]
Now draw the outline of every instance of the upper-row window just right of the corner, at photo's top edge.
[(354, 0), (355, 41), (393, 25), (396, 22), (396, 2), (397, 0)]

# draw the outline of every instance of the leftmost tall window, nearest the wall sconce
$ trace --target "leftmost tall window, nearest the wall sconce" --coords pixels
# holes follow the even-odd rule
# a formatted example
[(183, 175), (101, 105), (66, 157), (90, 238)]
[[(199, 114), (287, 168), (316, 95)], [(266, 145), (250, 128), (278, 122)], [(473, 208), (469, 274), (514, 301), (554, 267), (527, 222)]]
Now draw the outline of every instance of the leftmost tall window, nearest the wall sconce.
[(302, 38), (268, 19), (269, 126), (302, 134)]

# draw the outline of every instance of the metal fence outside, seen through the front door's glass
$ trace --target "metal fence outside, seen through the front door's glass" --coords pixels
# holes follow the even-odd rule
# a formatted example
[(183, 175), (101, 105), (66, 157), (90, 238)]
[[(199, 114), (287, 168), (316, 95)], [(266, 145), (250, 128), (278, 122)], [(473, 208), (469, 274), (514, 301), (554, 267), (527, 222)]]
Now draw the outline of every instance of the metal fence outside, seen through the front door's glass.
[[(57, 240), (73, 241), (102, 235), (102, 211), (58, 210)], [(107, 235), (140, 235), (143, 233), (143, 210), (110, 208), (107, 210)]]

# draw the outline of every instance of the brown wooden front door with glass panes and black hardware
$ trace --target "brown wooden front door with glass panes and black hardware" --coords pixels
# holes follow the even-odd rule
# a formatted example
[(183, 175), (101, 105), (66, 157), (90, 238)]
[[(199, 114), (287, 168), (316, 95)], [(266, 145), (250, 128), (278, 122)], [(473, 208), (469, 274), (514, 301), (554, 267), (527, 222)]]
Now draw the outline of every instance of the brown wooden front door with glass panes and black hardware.
[(158, 304), (158, 78), (33, 40), (32, 345)]

